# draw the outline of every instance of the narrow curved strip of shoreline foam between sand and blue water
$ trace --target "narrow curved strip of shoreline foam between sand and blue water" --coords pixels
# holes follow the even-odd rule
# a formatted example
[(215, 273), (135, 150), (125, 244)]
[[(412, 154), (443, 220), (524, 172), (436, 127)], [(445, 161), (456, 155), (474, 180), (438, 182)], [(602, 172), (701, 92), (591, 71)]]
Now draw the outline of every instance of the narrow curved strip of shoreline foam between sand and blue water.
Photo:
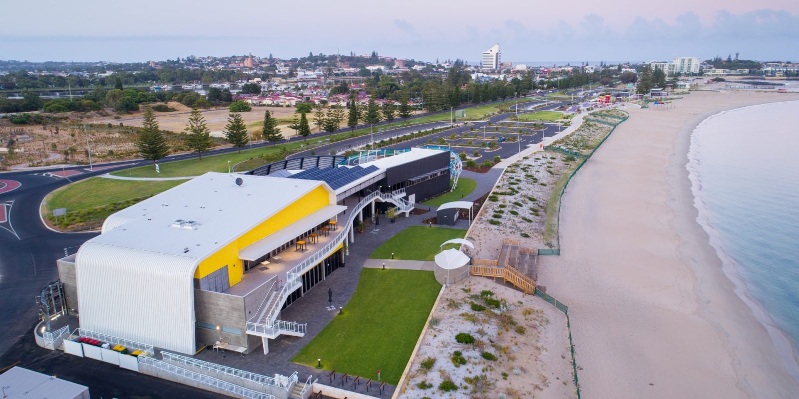
[(725, 251), (725, 247), (722, 242), (723, 240), (721, 239), (721, 233), (718, 231), (718, 229), (716, 229), (716, 227), (714, 227), (713, 223), (710, 222), (710, 213), (712, 210), (706, 207), (704, 199), (702, 199), (702, 179), (699, 176), (697, 168), (700, 160), (698, 159), (698, 143), (696, 135), (700, 128), (702, 128), (703, 124), (706, 124), (708, 120), (711, 120), (715, 117), (723, 117), (727, 113), (732, 113), (741, 109), (761, 107), (764, 105), (774, 104), (775, 102), (786, 101), (774, 101), (764, 104), (745, 105), (743, 107), (725, 109), (721, 112), (714, 113), (713, 115), (710, 115), (710, 117), (706, 117), (699, 122), (694, 127), (690, 135), (686, 170), (688, 171), (688, 178), (691, 182), (691, 193), (694, 196), (694, 207), (697, 208), (698, 212), (696, 221), (702, 227), (702, 229), (706, 231), (708, 235), (708, 243), (716, 251), (716, 255), (721, 262), (722, 271), (724, 271), (727, 278), (733, 282), (733, 284), (735, 284), (736, 287), (734, 292), (739, 298), (741, 298), (743, 302), (745, 302), (747, 306), (749, 306), (754, 317), (757, 318), (757, 321), (760, 322), (761, 325), (764, 326), (769, 332), (769, 336), (772, 338), (774, 346), (777, 347), (777, 354), (779, 354), (783, 365), (785, 365), (785, 369), (787, 369), (787, 371), (794, 378), (799, 380), (799, 354), (797, 354), (797, 348), (793, 345), (793, 342), (790, 341), (785, 331), (781, 330), (780, 327), (773, 322), (773, 318), (771, 318), (768, 311), (765, 310), (763, 304), (759, 302), (757, 298), (754, 298), (754, 296), (749, 292), (746, 281), (741, 275), (741, 265), (736, 259), (733, 258), (733, 256), (729, 255), (727, 251)]

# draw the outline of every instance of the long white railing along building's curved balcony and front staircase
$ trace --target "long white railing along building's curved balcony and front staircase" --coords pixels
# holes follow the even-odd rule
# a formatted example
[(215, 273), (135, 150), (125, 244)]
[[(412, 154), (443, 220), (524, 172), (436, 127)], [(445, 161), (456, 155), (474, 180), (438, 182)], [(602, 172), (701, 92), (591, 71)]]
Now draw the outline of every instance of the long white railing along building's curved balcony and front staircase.
[[(356, 215), (360, 212), (361, 209), (366, 207), (369, 203), (371, 203), (374, 199), (378, 196), (382, 198), (382, 193), (380, 192), (371, 192), (368, 196), (365, 196), (360, 202), (352, 208), (350, 214), (347, 219), (347, 223), (344, 223), (344, 226), (340, 227), (339, 234), (336, 235), (327, 245), (322, 247), (319, 251), (313, 253), (313, 255), (309, 256), (304, 261), (298, 263), (295, 267), (292, 267), (286, 273), (286, 284), (283, 286), (283, 289), (280, 290), (280, 296), (278, 300), (275, 301), (270, 308), (265, 310), (266, 317), (260, 318), (259, 321), (263, 322), (247, 322), (247, 330), (252, 331), (255, 333), (260, 334), (276, 334), (276, 330), (280, 330), (276, 328), (276, 319), (277, 314), (280, 313), (280, 308), (283, 306), (283, 302), (288, 298), (288, 295), (294, 292), (297, 288), (302, 285), (300, 277), (306, 271), (306, 269), (310, 269), (311, 267), (315, 266), (316, 263), (319, 263), (321, 260), (328, 255), (330, 251), (334, 248), (338, 247), (340, 243), (344, 242), (344, 239), (347, 238), (347, 231), (352, 227), (352, 223), (355, 221)], [(393, 199), (393, 198), (392, 198)], [(406, 201), (407, 202), (407, 201)], [(411, 204), (412, 205), (412, 204)], [(307, 324), (304, 326), (308, 326)]]

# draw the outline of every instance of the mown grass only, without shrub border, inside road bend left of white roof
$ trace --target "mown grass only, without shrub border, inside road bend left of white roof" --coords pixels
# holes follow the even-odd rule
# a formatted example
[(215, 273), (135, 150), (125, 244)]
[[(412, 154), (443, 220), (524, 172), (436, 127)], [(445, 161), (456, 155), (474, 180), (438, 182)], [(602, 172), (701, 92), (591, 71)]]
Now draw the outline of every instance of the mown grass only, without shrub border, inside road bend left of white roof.
[(104, 177), (90, 177), (47, 196), (47, 209), (66, 207), (67, 211), (79, 211), (99, 207), (108, 203), (124, 201), (142, 196), (150, 196), (173, 188), (186, 180), (137, 181), (113, 180)]

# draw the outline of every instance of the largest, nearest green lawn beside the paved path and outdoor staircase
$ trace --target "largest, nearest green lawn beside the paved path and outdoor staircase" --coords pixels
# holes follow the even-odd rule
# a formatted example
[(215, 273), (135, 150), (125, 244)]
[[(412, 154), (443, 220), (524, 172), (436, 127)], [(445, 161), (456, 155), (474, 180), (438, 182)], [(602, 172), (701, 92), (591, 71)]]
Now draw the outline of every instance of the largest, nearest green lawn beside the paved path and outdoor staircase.
[[(352, 299), (292, 361), (396, 385), (441, 284), (430, 271), (364, 269)], [(351, 380), (352, 381), (352, 380)]]

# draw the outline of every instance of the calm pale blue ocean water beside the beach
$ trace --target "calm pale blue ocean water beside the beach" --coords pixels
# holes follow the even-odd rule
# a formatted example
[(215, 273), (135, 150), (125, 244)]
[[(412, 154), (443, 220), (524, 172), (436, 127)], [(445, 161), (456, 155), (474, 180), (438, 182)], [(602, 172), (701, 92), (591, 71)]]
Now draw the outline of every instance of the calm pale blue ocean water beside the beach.
[[(738, 294), (783, 345), (799, 347), (799, 101), (719, 113), (691, 138), (699, 223), (741, 279)], [(761, 311), (762, 310), (762, 311)]]

